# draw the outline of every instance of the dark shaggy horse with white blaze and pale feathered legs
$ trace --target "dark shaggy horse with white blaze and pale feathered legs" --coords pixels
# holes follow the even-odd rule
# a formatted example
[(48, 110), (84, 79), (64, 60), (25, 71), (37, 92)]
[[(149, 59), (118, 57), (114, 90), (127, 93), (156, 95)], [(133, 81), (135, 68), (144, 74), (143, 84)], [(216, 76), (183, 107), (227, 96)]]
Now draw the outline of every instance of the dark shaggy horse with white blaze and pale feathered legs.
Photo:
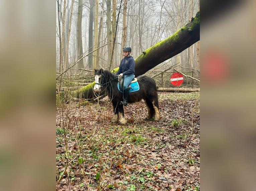
[[(128, 103), (138, 102), (141, 99), (144, 99), (148, 108), (148, 115), (146, 119), (155, 117), (155, 120), (158, 121), (160, 118), (160, 112), (155, 81), (148, 76), (139, 76), (137, 77), (137, 82), (140, 89), (137, 92), (129, 93)], [(126, 119), (124, 117), (124, 108), (123, 105), (120, 105), (120, 102), (123, 100), (123, 94), (119, 92), (117, 84), (118, 75), (104, 69), (95, 70), (94, 91), (100, 91), (101, 86), (106, 87), (107, 94), (111, 99), (114, 108), (114, 117), (112, 122), (125, 124)]]

